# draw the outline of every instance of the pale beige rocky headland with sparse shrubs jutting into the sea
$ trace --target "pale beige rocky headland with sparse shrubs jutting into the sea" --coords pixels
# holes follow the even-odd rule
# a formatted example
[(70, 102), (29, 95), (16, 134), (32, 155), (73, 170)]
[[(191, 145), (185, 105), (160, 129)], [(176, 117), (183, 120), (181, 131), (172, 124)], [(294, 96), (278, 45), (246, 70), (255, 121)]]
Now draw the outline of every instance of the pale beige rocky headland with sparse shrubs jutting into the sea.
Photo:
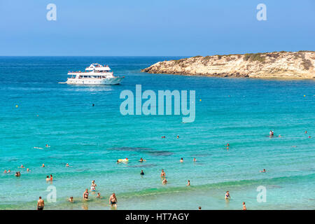
[(186, 76), (247, 78), (314, 78), (315, 52), (265, 52), (244, 55), (195, 56), (158, 62), (142, 72)]

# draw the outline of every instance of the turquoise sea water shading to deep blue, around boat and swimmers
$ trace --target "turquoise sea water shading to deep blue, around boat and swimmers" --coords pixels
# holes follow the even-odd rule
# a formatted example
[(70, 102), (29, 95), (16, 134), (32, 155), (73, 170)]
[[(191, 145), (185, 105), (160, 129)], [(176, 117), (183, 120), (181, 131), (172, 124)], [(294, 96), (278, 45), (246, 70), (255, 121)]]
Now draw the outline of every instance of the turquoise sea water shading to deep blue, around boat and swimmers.
[[(178, 58), (0, 57), (0, 209), (35, 209), (40, 195), (45, 209), (110, 209), (113, 192), (118, 209), (241, 209), (241, 202), (248, 209), (314, 209), (314, 80), (140, 72)], [(123, 83), (58, 84), (69, 70), (92, 62), (109, 64), (125, 76)], [(182, 123), (182, 116), (122, 116), (120, 92), (134, 92), (136, 84), (143, 91), (195, 90), (195, 122)], [(281, 138), (270, 139), (269, 130)], [(141, 157), (147, 161), (137, 162)], [(119, 158), (130, 162), (117, 165)], [(267, 173), (260, 173), (264, 168)], [(3, 174), (4, 169), (12, 173)], [(18, 170), (22, 175), (15, 177)], [(50, 174), (54, 181), (46, 183)], [(103, 198), (90, 194), (83, 202), (92, 180)], [(48, 186), (57, 189), (57, 202), (47, 202)], [(258, 186), (265, 186), (266, 202), (257, 202)], [(224, 200), (226, 190), (230, 202)], [(66, 202), (71, 196), (73, 204)]]

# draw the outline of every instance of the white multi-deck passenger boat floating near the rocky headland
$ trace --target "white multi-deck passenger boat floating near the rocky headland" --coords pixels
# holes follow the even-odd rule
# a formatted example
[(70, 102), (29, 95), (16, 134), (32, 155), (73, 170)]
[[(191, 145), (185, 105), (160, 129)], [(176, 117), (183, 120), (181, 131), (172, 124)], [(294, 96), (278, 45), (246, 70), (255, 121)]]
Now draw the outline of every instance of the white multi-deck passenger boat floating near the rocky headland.
[(66, 84), (118, 85), (125, 77), (114, 76), (108, 65), (93, 63), (85, 71), (69, 71)]

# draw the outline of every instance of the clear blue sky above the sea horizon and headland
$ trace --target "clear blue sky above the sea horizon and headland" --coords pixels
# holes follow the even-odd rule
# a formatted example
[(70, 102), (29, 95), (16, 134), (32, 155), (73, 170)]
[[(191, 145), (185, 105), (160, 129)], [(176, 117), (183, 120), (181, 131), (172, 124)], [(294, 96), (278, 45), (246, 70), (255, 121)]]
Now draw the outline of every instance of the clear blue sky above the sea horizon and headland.
[[(48, 3), (57, 21), (46, 20)], [(267, 20), (258, 21), (258, 3)], [(315, 50), (315, 1), (0, 0), (0, 55), (216, 55)]]

